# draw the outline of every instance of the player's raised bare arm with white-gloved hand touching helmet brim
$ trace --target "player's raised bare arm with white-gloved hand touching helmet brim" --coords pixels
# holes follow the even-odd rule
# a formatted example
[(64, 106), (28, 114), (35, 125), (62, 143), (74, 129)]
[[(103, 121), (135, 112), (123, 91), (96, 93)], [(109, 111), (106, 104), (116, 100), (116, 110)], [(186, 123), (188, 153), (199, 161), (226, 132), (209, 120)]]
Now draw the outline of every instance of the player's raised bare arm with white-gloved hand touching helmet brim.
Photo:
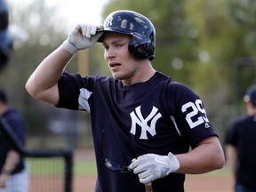
[(68, 39), (47, 56), (28, 78), (27, 91), (39, 100), (58, 104), (58, 82), (64, 68), (77, 51), (91, 47), (98, 40), (102, 32), (96, 32), (100, 28), (102, 27), (78, 24), (69, 33)]

